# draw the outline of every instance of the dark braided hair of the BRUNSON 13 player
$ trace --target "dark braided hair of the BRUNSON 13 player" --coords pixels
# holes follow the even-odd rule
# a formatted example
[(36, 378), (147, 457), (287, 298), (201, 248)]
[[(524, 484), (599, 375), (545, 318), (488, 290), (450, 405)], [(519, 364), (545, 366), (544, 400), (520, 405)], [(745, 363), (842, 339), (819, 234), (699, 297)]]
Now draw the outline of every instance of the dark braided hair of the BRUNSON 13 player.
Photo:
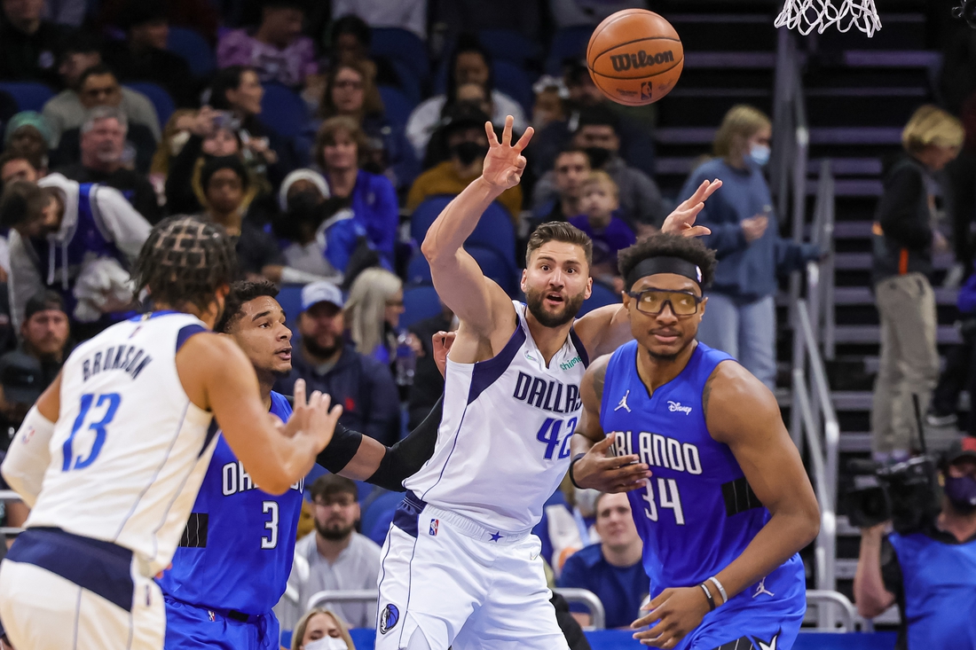
[(133, 277), (157, 303), (207, 309), (236, 271), (234, 240), (221, 225), (178, 216), (153, 226)]

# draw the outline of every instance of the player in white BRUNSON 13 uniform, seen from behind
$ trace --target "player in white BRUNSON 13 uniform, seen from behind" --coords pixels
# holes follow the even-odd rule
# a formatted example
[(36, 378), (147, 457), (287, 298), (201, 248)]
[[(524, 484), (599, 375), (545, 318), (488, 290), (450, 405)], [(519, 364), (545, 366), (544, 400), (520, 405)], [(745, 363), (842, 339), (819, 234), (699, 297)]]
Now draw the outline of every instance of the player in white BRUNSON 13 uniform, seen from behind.
[[(152, 576), (173, 556), (217, 446), (216, 416), (252, 480), (282, 494), (312, 467), (341, 408), (296, 386), (287, 425), (247, 356), (210, 332), (236, 269), (211, 223), (156, 225), (136, 264), (156, 311), (79, 345), (37, 400), (2, 470), (30, 508), (0, 564), (0, 618), (31, 650), (163, 646)], [(43, 480), (43, 483), (42, 483)]]

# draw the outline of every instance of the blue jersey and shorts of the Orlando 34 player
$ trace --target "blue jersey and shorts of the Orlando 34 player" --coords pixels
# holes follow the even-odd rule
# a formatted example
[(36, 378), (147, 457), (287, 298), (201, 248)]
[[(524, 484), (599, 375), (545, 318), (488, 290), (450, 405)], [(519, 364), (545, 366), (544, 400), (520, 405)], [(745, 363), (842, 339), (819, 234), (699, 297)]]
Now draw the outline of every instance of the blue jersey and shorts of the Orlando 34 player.
[[(648, 397), (636, 354), (631, 341), (610, 358), (600, 424), (616, 437), (617, 456), (637, 454), (653, 473), (644, 489), (628, 492), (653, 598), (716, 575), (742, 554), (770, 514), (728, 445), (716, 442), (706, 425), (702, 390), (715, 367), (732, 357), (699, 343), (678, 376)], [(767, 645), (777, 636), (778, 647), (789, 648), (805, 610), (803, 564), (794, 554), (707, 614), (678, 647), (690, 647), (693, 639), (719, 646), (742, 635)]]

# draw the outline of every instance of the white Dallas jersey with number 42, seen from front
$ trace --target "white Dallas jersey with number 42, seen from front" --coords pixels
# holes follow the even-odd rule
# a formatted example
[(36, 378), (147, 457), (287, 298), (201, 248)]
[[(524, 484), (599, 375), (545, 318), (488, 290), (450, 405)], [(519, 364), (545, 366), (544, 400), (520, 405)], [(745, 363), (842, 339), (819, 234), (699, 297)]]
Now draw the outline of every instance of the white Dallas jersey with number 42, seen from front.
[(422, 500), (488, 528), (523, 531), (566, 474), (570, 439), (580, 422), (580, 382), (587, 350), (570, 330), (546, 366), (529, 332), (526, 307), (495, 357), (448, 359), (444, 415), (433, 456), (404, 481)]

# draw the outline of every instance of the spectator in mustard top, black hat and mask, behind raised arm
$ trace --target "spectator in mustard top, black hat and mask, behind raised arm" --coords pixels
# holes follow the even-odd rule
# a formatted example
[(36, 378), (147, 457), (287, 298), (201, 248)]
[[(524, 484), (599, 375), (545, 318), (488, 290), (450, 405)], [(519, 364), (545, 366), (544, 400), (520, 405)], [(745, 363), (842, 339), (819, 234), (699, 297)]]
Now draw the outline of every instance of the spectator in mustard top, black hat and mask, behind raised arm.
[[(429, 196), (460, 194), (468, 183), (481, 175), (484, 157), (488, 153), (488, 136), (485, 133), (487, 117), (477, 108), (462, 105), (445, 118), (444, 140), (451, 158), (417, 177), (407, 194), (408, 210), (415, 210)], [(508, 210), (512, 221), (516, 221), (522, 209), (521, 186), (509, 187), (502, 192), (498, 202)]]

